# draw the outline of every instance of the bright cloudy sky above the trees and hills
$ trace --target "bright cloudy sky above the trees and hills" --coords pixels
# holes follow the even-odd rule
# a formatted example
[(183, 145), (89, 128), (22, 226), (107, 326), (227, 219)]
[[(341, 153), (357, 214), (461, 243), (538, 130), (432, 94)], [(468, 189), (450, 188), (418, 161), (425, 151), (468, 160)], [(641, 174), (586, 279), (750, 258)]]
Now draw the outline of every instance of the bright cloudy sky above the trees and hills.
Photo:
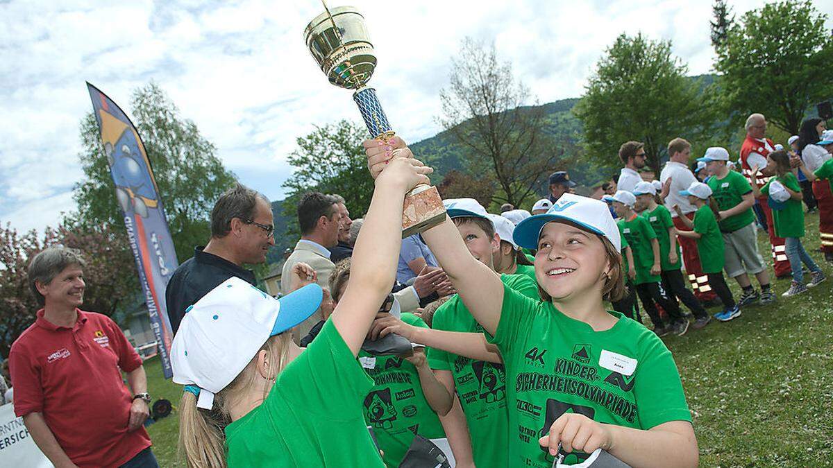
[[(737, 13), (760, 5), (730, 3)], [(410, 142), (438, 131), (439, 90), (466, 36), (493, 41), (539, 102), (580, 96), (621, 32), (671, 39), (691, 74), (711, 71), (708, 0), (347, 4), (366, 17), (379, 60), (372, 84)], [(833, 0), (815, 4), (833, 10)], [(85, 81), (125, 111), (134, 88), (157, 82), (243, 183), (282, 197), (297, 137), (359, 121), (350, 92), (327, 82), (304, 45), (321, 11), (317, 0), (0, 0), (0, 222), (40, 230), (75, 207)]]

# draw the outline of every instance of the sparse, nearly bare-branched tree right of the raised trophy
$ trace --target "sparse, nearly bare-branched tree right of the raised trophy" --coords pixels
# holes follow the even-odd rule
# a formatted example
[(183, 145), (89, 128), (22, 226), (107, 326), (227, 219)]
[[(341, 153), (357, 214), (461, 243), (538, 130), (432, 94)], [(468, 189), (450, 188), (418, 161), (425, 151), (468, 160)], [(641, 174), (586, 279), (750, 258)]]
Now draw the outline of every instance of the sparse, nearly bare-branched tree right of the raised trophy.
[(490, 177), (500, 202), (520, 206), (547, 177), (558, 152), (546, 134), (543, 107), (524, 107), (530, 93), (497, 59), (494, 44), (469, 37), (451, 59), (451, 83), (440, 92), (438, 119), (462, 147), (469, 172)]

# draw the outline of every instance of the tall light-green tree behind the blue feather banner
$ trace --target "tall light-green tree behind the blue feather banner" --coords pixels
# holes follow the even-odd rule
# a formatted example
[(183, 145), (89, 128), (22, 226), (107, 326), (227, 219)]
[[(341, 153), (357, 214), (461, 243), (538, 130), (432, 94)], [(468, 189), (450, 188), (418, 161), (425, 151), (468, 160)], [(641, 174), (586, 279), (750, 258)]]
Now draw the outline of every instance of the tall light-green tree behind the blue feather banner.
[[(183, 119), (173, 102), (151, 82), (132, 93), (133, 124), (137, 127), (165, 207), (168, 228), (180, 261), (211, 236), (211, 210), (236, 178), (216, 156), (217, 148), (202, 137), (194, 122)], [(117, 227), (127, 241), (122, 214), (113, 193), (112, 177), (92, 112), (81, 122), (82, 152), (78, 155), (84, 180), (74, 191), (78, 212), (74, 222), (87, 227)], [(127, 244), (125, 244), (127, 245)], [(135, 268), (130, 274), (137, 275)]]

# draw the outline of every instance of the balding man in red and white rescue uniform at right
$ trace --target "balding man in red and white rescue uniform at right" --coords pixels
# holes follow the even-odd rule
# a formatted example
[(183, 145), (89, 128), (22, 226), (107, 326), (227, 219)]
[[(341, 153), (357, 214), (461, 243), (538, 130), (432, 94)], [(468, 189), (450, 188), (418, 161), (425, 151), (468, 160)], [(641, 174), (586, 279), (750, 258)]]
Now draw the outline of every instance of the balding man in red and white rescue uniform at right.
[[(765, 135), (766, 117), (763, 114), (755, 113), (746, 118), (746, 139), (741, 145), (741, 173), (750, 184), (756, 184), (758, 188), (764, 187), (773, 174), (766, 167), (766, 155), (775, 151), (775, 143)], [(761, 167), (761, 169), (753, 174), (752, 167)], [(776, 236), (776, 230), (772, 228), (775, 226), (772, 221), (772, 209), (766, 202), (766, 197), (758, 198), (757, 201), (766, 215), (767, 226), (770, 226), (770, 244), (776, 277), (792, 277), (790, 261), (786, 258), (784, 238)]]

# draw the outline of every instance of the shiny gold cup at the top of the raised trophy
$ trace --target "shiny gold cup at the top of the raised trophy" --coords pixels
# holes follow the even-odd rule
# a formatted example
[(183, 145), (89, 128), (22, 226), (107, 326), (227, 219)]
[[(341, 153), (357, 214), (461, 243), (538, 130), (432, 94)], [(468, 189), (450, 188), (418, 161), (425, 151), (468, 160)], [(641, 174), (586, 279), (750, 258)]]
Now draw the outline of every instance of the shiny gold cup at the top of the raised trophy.
[(338, 87), (362, 87), (376, 68), (364, 17), (355, 7), (330, 8), (318, 15), (304, 28), (304, 40), (322, 72)]

